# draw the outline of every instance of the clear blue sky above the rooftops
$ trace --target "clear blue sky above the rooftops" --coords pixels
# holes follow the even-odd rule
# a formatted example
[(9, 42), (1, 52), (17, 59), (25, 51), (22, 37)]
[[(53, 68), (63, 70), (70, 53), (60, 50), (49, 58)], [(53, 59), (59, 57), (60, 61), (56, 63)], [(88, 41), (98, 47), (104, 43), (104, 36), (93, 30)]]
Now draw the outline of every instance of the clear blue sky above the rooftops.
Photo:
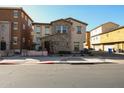
[(87, 31), (106, 22), (124, 25), (124, 5), (22, 5), (35, 22), (73, 17), (88, 23)]

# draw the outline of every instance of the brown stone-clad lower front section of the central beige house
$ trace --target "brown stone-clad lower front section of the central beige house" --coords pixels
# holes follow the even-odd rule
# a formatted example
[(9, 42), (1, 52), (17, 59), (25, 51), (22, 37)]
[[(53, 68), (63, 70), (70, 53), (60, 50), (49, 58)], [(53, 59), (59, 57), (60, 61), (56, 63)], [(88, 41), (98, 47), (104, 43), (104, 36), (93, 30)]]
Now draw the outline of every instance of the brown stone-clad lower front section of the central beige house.
[[(71, 51), (70, 37), (67, 33), (57, 33), (41, 38), (43, 48), (48, 49), (49, 53), (58, 53), (59, 51)], [(44, 42), (48, 42), (49, 45)]]

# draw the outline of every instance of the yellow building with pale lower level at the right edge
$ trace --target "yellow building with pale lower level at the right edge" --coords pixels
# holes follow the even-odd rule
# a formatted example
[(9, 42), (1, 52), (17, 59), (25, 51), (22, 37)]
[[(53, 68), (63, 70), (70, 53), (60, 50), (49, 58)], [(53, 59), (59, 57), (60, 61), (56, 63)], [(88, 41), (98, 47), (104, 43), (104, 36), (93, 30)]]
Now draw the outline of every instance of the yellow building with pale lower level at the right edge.
[(117, 52), (124, 52), (124, 26), (99, 35), (101, 37), (102, 50), (114, 49)]

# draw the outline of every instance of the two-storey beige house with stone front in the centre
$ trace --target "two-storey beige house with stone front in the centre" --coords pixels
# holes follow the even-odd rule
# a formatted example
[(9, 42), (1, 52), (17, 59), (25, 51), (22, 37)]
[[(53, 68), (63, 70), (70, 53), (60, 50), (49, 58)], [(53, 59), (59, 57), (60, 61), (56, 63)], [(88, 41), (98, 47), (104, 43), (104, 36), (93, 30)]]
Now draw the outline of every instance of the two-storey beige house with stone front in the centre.
[[(59, 51), (80, 51), (84, 48), (85, 31), (87, 23), (74, 18), (66, 18), (52, 21), (51, 23), (33, 23), (34, 33), (40, 32), (41, 37), (34, 34), (34, 44), (36, 38), (40, 38), (42, 49), (49, 53)], [(37, 30), (36, 27), (39, 27)], [(37, 48), (36, 48), (37, 49)]]

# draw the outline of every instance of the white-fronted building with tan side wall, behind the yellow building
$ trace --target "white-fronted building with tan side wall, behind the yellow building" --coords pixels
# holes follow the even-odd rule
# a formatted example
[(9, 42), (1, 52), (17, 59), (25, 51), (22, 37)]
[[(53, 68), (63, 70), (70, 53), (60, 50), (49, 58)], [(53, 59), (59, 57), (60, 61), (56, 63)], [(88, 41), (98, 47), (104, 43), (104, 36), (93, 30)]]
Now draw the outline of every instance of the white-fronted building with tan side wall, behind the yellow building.
[[(100, 34), (112, 31), (114, 29), (117, 29), (118, 27), (119, 27), (119, 25), (116, 23), (107, 22), (105, 24), (102, 24), (102, 25), (92, 29), (90, 31), (91, 48), (94, 48), (97, 51), (103, 50), (103, 45), (101, 44), (101, 40), (103, 38), (100, 36)], [(115, 38), (115, 37), (113, 37), (113, 38)]]

